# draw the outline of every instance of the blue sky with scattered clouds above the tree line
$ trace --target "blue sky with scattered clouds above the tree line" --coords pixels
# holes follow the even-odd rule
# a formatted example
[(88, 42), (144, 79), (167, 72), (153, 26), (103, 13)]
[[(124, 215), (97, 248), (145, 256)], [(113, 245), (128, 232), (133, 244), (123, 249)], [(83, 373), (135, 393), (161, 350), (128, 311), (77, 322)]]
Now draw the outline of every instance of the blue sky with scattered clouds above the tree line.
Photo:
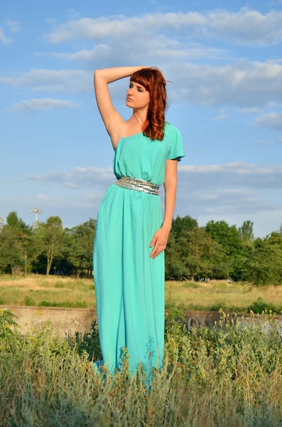
[[(175, 215), (264, 237), (282, 223), (282, 0), (13, 1), (0, 6), (0, 216), (71, 227), (116, 179), (96, 68), (163, 70), (186, 157)], [(127, 120), (128, 78), (112, 83)], [(164, 191), (161, 188), (164, 209)]]

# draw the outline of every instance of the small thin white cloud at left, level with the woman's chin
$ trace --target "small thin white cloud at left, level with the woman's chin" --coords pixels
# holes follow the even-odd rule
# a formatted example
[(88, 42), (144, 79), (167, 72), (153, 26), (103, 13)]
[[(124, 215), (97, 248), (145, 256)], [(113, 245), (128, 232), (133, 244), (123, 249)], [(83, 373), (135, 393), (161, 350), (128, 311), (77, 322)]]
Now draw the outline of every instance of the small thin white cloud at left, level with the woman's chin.
[(16, 102), (15, 104), (11, 105), (11, 107), (8, 107), (7, 110), (36, 111), (50, 109), (54, 110), (62, 108), (80, 108), (80, 105), (77, 104), (77, 102), (72, 102), (70, 100), (54, 100), (52, 98), (42, 98)]

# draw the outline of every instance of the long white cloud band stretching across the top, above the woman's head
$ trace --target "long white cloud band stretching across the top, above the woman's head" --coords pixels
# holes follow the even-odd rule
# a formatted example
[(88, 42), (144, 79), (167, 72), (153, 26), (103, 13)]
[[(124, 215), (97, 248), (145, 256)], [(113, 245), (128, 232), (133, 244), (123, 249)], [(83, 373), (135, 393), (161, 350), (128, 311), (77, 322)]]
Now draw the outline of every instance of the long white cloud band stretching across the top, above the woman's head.
[(280, 43), (282, 40), (282, 11), (259, 11), (243, 7), (238, 12), (214, 9), (205, 13), (189, 11), (187, 13), (154, 13), (143, 16), (124, 15), (97, 19), (72, 19), (60, 23), (53, 31), (45, 34), (50, 43), (89, 39), (104, 41), (106, 38), (128, 38), (157, 33), (161, 30), (187, 31), (190, 39), (229, 38), (235, 43), (266, 46)]

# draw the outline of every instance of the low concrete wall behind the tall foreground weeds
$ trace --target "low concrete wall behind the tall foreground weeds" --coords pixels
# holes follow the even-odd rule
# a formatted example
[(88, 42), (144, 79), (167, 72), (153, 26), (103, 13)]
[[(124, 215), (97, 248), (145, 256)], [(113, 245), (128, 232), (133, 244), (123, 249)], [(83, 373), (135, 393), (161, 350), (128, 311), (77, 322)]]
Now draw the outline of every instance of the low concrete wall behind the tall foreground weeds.
[[(1, 309), (8, 309), (16, 315), (15, 322), (21, 326), (21, 333), (27, 331), (36, 334), (43, 323), (50, 319), (53, 325), (53, 334), (65, 337), (69, 331), (90, 332), (92, 320), (97, 320), (96, 309), (91, 308), (60, 308), (60, 307), (21, 307), (13, 305), (0, 305)], [(168, 312), (166, 312), (168, 314)], [(185, 311), (183, 312), (186, 327), (213, 326), (215, 321), (220, 320), (219, 312), (212, 311)], [(242, 317), (242, 315), (238, 315)], [(278, 323), (282, 325), (282, 315), (276, 315)], [(245, 315), (244, 322), (265, 322), (261, 317), (258, 319)]]

